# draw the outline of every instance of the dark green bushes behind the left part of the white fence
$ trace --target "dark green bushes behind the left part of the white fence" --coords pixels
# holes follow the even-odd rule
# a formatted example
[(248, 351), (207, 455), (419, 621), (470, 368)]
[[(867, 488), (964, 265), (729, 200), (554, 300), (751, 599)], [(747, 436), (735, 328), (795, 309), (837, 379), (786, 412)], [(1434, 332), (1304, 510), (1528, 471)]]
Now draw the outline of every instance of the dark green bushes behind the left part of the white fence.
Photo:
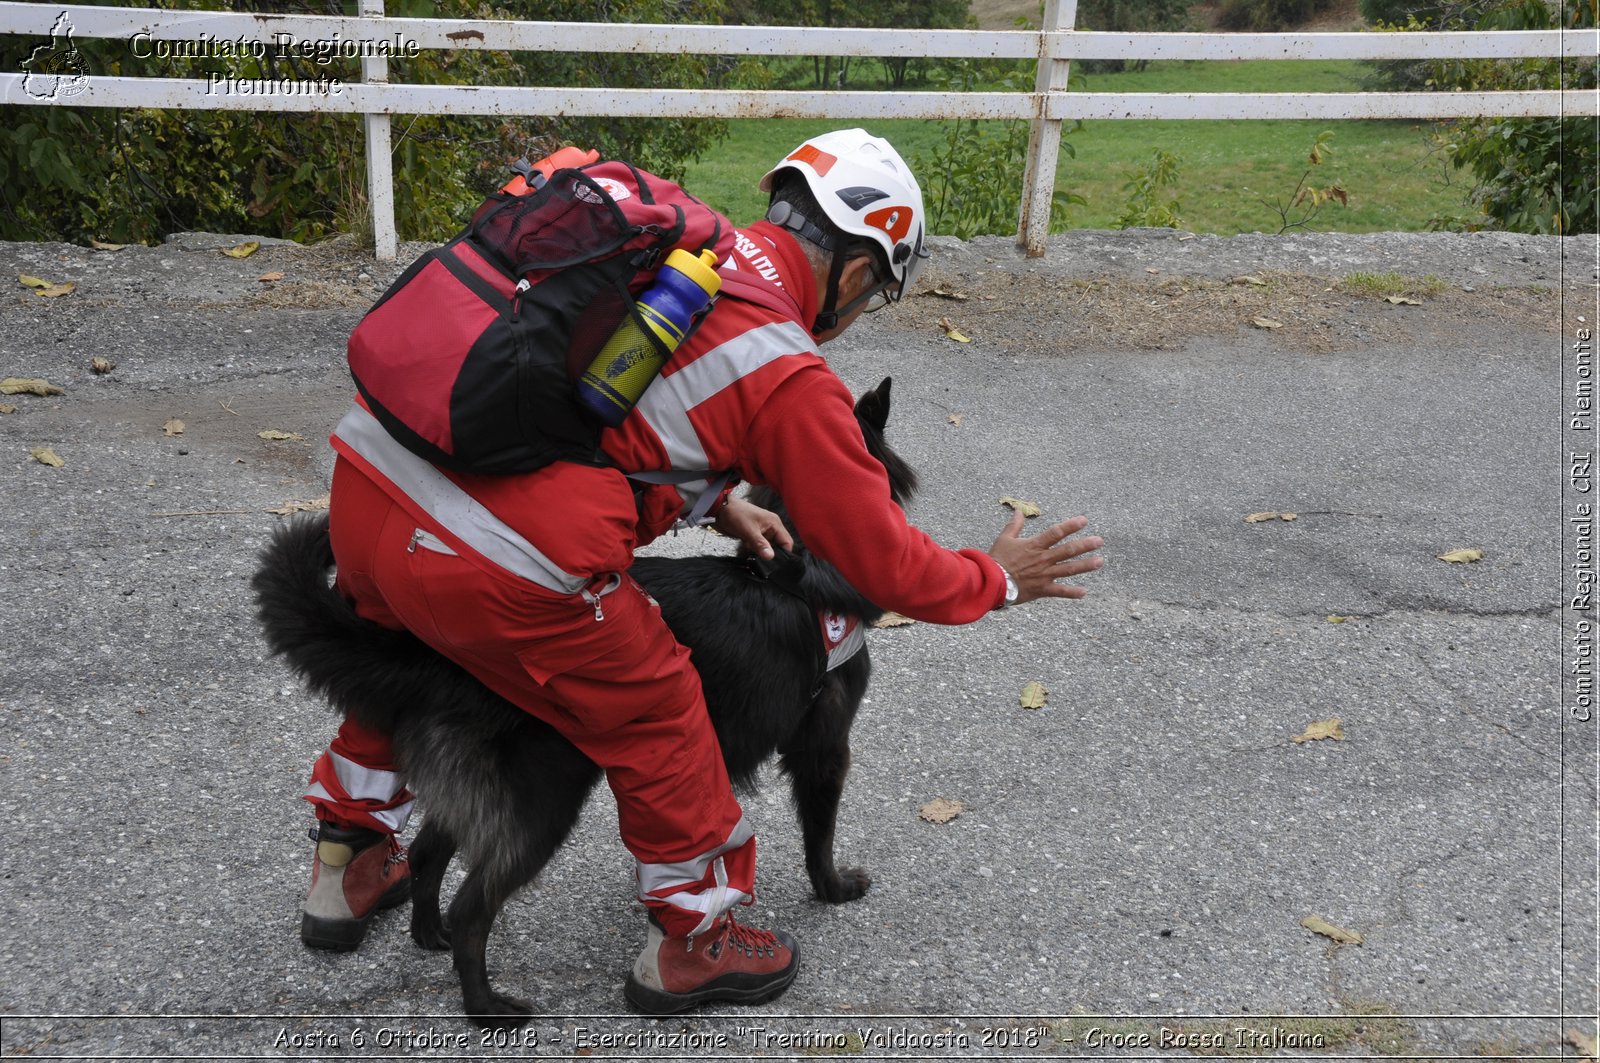
[[(248, 0), (165, 6), (245, 10)], [(328, 13), (315, 0), (283, 10)], [(338, 10), (338, 5), (334, 5)], [(389, 14), (595, 21), (717, 21), (722, 0), (390, 0)], [(18, 70), (40, 42), (0, 38), (0, 69)], [(138, 59), (125, 42), (80, 40), (88, 74), (203, 78), (208, 74), (358, 80), (358, 62)], [(424, 51), (390, 59), (390, 78), (458, 85), (696, 86), (696, 56)], [(742, 67), (722, 69), (738, 80)], [(0, 239), (154, 242), (181, 229), (315, 240), (358, 229), (366, 213), (358, 115), (246, 110), (19, 107), (0, 128)], [(678, 176), (725, 131), (715, 120), (466, 118), (394, 115), (395, 218), (402, 237), (440, 240), (506, 176), (520, 154), (578, 142)]]

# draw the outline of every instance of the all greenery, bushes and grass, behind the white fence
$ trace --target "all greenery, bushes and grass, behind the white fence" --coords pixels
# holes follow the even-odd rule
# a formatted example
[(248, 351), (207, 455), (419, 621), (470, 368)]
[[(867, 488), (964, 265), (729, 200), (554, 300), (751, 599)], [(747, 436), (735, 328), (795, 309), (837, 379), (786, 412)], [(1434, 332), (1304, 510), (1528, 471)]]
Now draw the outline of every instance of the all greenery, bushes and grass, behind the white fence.
[[(110, 0), (115, 2), (115, 0)], [(1274, 27), (1342, 5), (1387, 29), (1520, 29), (1595, 24), (1600, 0), (1080, 0), (1085, 29)], [(341, 0), (157, 0), (176, 8), (341, 13)], [(992, 5), (990, 5), (992, 6)], [(1014, 5), (1013, 5), (1014, 6)], [(968, 0), (389, 0), (389, 13), (640, 22), (958, 27)], [(990, 22), (994, 24), (994, 22)], [(19, 69), (37, 40), (0, 37), (0, 69)], [(123, 42), (80, 40), (93, 74), (317, 75), (355, 80), (357, 62), (138, 61)], [(1098, 91), (1320, 91), (1357, 88), (1594, 88), (1600, 61), (1475, 62), (1078, 62), (1074, 88)], [(1147, 69), (1146, 69), (1147, 67)], [(424, 51), (390, 61), (398, 80), (482, 85), (659, 85), (717, 88), (1026, 88), (1032, 64), (816, 56), (626, 56)], [(1363, 85), (1365, 82), (1365, 85)], [(800, 120), (454, 118), (397, 115), (397, 221), (405, 239), (448, 237), (522, 154), (555, 142), (598, 147), (672, 178), (747, 219), (747, 186), (782, 150), (837, 123)], [(923, 179), (933, 229), (1014, 232), (1026, 123), (878, 122)], [(1098, 122), (1069, 128), (1054, 227), (1181, 224), (1277, 231), (1272, 213), (1304, 170), (1304, 146), (1330, 126), (1328, 179), (1347, 207), (1318, 224), (1349, 231), (1507, 227), (1594, 232), (1594, 118), (1416, 122)], [(1314, 128), (1315, 126), (1315, 128)], [(731, 139), (728, 139), (731, 136)], [(1162, 163), (1160, 155), (1168, 154)], [(1454, 174), (1454, 176), (1453, 176)], [(154, 242), (210, 229), (315, 240), (370, 226), (360, 120), (342, 115), (14, 107), (0, 123), (0, 239)]]

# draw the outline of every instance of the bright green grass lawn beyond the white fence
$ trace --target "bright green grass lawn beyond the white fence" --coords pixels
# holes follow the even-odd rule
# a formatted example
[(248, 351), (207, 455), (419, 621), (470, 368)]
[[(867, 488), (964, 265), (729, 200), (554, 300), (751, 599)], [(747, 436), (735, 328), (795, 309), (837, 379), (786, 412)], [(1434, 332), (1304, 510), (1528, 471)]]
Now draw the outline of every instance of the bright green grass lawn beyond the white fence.
[[(1366, 64), (1355, 61), (1154, 62), (1146, 70), (1088, 75), (1088, 91), (1357, 91)], [(872, 86), (861, 67), (853, 85)], [(760, 215), (760, 176), (795, 144), (850, 120), (738, 120), (730, 138), (690, 166), (688, 187), (736, 221)], [(907, 158), (931, 155), (941, 122), (869, 122)], [(1277, 232), (1275, 210), (1288, 203), (1306, 173), (1306, 154), (1323, 130), (1333, 130), (1326, 160), (1309, 183), (1341, 184), (1349, 205), (1328, 205), (1314, 229), (1338, 232), (1422, 231), (1434, 218), (1469, 215), (1466, 184), (1430, 150), (1422, 122), (1088, 122), (1067, 138), (1075, 157), (1062, 157), (1058, 187), (1088, 200), (1067, 216), (1074, 229), (1106, 229), (1122, 213), (1131, 170), (1157, 147), (1181, 160), (1179, 216), (1186, 229), (1232, 235)], [(1453, 181), (1451, 181), (1453, 178)], [(1021, 183), (1021, 174), (995, 174)], [(926, 179), (923, 181), (926, 184)]]

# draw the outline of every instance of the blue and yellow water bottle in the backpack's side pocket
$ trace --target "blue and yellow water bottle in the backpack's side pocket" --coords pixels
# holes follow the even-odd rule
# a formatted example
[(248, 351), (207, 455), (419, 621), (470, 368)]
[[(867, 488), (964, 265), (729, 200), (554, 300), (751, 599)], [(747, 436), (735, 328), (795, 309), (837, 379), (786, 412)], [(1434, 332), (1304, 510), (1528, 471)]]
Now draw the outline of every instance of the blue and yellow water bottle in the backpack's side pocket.
[[(589, 370), (578, 381), (578, 400), (608, 427), (616, 427), (656, 379), (667, 355), (677, 351), (694, 319), (710, 307), (722, 288), (717, 253), (685, 250), (667, 255), (656, 282), (638, 293), (634, 314), (622, 319)], [(640, 330), (645, 323), (654, 339)]]

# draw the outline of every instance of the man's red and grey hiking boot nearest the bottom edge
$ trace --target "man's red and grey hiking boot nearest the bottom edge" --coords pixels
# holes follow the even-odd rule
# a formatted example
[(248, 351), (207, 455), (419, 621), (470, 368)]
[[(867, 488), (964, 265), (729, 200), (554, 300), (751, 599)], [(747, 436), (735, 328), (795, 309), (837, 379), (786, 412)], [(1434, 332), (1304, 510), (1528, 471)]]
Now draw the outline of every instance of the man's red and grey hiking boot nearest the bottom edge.
[(634, 962), (622, 996), (646, 1015), (699, 1004), (765, 1004), (795, 980), (800, 949), (784, 932), (739, 925), (733, 913), (706, 933), (670, 938), (650, 917), (650, 940)]

